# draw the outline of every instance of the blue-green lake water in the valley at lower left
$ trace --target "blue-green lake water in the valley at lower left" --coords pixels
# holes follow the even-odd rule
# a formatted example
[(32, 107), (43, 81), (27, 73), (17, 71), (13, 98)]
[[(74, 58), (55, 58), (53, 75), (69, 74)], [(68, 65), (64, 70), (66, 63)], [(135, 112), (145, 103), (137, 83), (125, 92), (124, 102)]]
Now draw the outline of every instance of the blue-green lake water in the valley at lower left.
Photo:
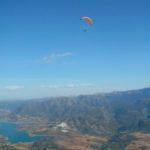
[(28, 132), (19, 131), (14, 123), (0, 123), (0, 135), (8, 138), (11, 143), (36, 142), (44, 138), (44, 136), (30, 137)]

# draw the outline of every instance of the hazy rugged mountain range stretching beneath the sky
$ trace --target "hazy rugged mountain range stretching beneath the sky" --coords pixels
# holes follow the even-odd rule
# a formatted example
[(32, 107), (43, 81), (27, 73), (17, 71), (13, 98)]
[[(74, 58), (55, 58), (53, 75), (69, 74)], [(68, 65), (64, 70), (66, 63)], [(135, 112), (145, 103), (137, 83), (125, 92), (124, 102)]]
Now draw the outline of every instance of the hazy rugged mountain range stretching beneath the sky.
[(1, 101), (11, 114), (65, 122), (89, 135), (150, 131), (150, 88), (106, 94), (55, 97), (27, 101)]

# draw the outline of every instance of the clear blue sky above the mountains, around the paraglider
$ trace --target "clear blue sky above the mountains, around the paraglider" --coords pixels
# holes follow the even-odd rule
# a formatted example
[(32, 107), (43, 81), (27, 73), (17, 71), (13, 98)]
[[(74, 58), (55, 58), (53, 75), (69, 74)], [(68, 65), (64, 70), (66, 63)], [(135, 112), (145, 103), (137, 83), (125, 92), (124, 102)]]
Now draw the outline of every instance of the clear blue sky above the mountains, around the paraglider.
[[(0, 99), (150, 85), (149, 0), (1, 0)], [(82, 16), (94, 19), (83, 32)]]

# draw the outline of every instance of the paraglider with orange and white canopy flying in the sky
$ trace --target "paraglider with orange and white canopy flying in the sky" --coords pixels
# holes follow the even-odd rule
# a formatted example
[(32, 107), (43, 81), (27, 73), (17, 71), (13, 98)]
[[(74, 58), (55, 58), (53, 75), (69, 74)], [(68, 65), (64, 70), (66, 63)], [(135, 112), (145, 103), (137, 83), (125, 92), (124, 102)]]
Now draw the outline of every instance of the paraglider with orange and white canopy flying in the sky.
[(82, 21), (81, 29), (85, 32), (87, 32), (94, 23), (93, 19), (90, 17), (81, 17), (80, 20)]

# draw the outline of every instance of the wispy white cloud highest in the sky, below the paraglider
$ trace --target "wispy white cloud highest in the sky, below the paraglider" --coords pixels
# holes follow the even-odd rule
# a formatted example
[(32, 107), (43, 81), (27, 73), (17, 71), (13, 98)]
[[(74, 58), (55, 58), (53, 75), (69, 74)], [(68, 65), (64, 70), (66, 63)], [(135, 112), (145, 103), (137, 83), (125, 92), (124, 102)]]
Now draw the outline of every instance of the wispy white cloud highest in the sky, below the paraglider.
[(48, 56), (45, 56), (42, 58), (42, 62), (45, 63), (45, 64), (50, 64), (54, 61), (57, 61), (57, 60), (61, 60), (63, 58), (67, 58), (67, 57), (70, 57), (72, 56), (73, 54), (71, 52), (65, 52), (65, 53), (52, 53)]

